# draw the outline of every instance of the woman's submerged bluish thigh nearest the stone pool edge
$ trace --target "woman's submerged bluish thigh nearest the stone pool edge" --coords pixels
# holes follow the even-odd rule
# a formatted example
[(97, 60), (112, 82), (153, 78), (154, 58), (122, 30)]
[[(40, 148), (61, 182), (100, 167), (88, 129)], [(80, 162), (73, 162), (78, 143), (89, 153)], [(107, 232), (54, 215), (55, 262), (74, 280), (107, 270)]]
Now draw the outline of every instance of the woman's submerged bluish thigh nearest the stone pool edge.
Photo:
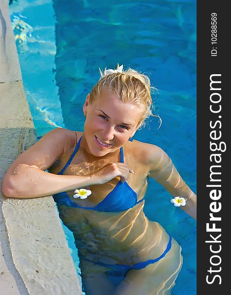
[(107, 278), (108, 267), (80, 260), (81, 278), (86, 295), (112, 295), (114, 285)]

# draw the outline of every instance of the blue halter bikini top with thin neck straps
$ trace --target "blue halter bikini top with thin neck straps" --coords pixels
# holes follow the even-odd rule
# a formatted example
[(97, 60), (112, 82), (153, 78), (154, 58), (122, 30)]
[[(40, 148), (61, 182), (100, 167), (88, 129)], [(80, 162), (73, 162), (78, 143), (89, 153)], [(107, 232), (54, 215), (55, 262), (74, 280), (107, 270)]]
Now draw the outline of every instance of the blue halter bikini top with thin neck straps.
[[(69, 161), (66, 163), (66, 165), (63, 167), (63, 169), (58, 173), (58, 175), (62, 175), (67, 166), (71, 163), (73, 157), (75, 156), (79, 146), (80, 142), (83, 136), (78, 141), (78, 144), (73, 151)], [(123, 163), (123, 148), (120, 148), (120, 157), (121, 162)], [(83, 207), (79, 206), (76, 203), (74, 203), (71, 198), (67, 195), (66, 192), (58, 193), (53, 196), (55, 201), (59, 205), (65, 205), (68, 207), (78, 207), (82, 209), (89, 209), (89, 210), (95, 210), (95, 211), (101, 211), (101, 212), (119, 212), (124, 211), (129, 208), (132, 208), (136, 206), (138, 203), (141, 203), (144, 199), (137, 201), (137, 193), (128, 185), (128, 183), (122, 182), (119, 180), (119, 182), (116, 184), (115, 188), (101, 201), (99, 204), (97, 204), (94, 207)]]

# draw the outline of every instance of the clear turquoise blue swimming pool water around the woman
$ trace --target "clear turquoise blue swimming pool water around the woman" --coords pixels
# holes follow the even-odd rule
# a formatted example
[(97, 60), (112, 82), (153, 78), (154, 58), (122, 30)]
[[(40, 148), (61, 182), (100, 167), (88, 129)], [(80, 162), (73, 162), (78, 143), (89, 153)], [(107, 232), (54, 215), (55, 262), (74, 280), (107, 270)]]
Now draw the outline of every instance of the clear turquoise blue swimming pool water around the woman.
[[(149, 75), (157, 118), (134, 138), (163, 148), (196, 192), (196, 1), (19, 0), (10, 5), (24, 86), (38, 136), (61, 126), (83, 130), (82, 106), (98, 68)], [(22, 30), (23, 26), (26, 28)], [(21, 41), (21, 42), (19, 42)], [(144, 212), (182, 247), (183, 266), (172, 295), (196, 294), (196, 221), (169, 202), (150, 179)], [(65, 230), (66, 231), (66, 230)], [(76, 250), (66, 231), (75, 263)]]

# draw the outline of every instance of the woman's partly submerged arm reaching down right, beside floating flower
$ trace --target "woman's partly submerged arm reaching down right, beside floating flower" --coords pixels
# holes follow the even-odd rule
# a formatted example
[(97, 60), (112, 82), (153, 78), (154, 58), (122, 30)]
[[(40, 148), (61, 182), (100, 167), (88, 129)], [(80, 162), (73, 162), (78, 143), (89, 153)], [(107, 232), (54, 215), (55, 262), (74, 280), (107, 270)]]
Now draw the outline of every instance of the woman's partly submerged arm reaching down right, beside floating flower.
[(154, 145), (148, 145), (146, 150), (146, 160), (149, 163), (148, 177), (162, 184), (173, 197), (185, 198), (186, 205), (180, 208), (197, 219), (197, 196), (180, 177), (170, 157), (164, 150)]

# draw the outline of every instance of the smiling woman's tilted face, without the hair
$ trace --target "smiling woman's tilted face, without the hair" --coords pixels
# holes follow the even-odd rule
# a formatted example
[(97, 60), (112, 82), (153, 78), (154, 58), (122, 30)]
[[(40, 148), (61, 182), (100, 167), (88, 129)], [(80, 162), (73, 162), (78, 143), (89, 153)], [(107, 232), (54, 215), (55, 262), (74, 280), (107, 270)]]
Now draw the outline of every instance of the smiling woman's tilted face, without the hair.
[(85, 148), (101, 157), (121, 148), (135, 134), (144, 110), (130, 103), (123, 104), (109, 88), (104, 87), (91, 103), (87, 95), (83, 111), (87, 116)]

